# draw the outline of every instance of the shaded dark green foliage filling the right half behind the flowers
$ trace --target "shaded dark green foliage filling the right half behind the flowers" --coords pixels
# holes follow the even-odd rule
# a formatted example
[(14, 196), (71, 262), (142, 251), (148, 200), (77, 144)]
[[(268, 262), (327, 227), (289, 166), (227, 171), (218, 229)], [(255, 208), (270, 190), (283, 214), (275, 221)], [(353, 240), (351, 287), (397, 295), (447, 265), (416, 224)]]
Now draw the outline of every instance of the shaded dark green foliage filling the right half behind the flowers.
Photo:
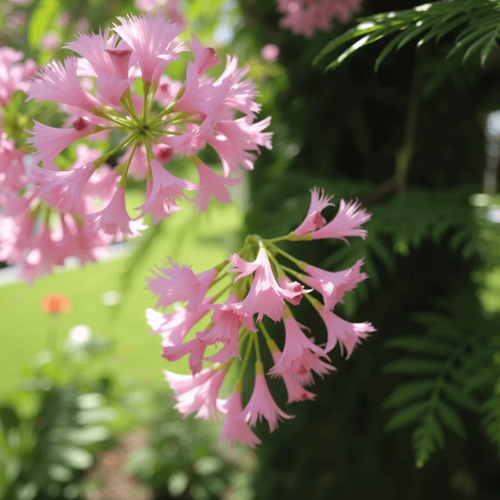
[[(438, 45), (425, 43), (417, 59), (410, 45), (432, 27), (417, 33), (415, 23), (422, 16), (437, 23), (434, 6), (415, 11), (410, 0), (363, 2), (368, 18), (401, 9), (414, 17), (393, 36), (415, 36), (377, 73), (382, 41), (354, 50), (324, 73), (311, 60), (328, 40), (354, 36), (352, 44), (363, 35), (337, 25), (333, 34), (304, 40), (278, 29), (268, 2), (241, 3), (248, 28), (239, 34), (241, 43), (277, 43), (288, 82), (263, 109), (279, 123), (273, 121), (273, 150), (252, 172), (245, 232), (286, 234), (301, 222), (314, 186), (335, 194), (337, 204), (341, 197), (359, 198), (373, 213), (366, 240), (350, 238), (350, 246), (295, 242), (285, 250), (332, 271), (365, 256), (370, 278), (338, 313), (377, 328), (348, 361), (333, 350), (338, 371), (316, 381), (313, 403), (284, 406), (293, 420), (271, 435), (265, 425), (257, 429), (263, 444), (255, 497), (355, 499), (369, 492), (386, 500), (496, 498), (500, 461), (491, 437), (495, 431), (498, 436), (500, 411), (491, 396), (498, 320), (484, 313), (477, 291), (486, 267), (500, 262), (500, 234), (498, 224), (485, 219), (487, 208), (479, 213), (469, 200), (482, 190), (484, 116), (498, 108), (500, 69), (493, 52), (483, 70), (471, 52), (462, 65), (461, 57), (444, 62), (443, 51), (460, 30), (484, 25), (478, 5), (491, 14), (497, 2), (434, 3), (449, 14), (455, 9), (450, 22), (465, 4), (471, 9), (465, 13), (477, 20), (461, 21)], [(392, 22), (378, 19), (380, 25)], [(290, 143), (296, 145), (293, 155), (286, 154)], [(297, 319), (324, 341), (324, 325), (307, 304)], [(281, 328), (272, 334), (280, 339)], [(280, 384), (272, 390), (283, 404)], [(426, 464), (416, 469), (415, 462)], [(468, 485), (457, 476), (468, 477)]]

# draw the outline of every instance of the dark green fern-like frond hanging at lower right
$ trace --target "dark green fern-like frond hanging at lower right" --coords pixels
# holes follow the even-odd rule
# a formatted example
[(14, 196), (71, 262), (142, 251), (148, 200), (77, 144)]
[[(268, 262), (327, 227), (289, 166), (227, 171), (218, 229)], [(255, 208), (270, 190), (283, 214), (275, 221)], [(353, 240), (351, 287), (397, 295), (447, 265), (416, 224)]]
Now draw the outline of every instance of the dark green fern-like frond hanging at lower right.
[[(421, 335), (394, 337), (388, 349), (405, 351), (407, 357), (389, 362), (385, 373), (420, 376), (397, 385), (382, 403), (394, 411), (386, 430), (416, 423), (412, 441), (417, 467), (423, 466), (445, 445), (444, 430), (465, 437), (459, 410), (478, 413), (475, 393), (491, 387), (496, 370), (490, 347), (491, 328), (474, 297), (456, 294), (442, 303), (443, 312), (420, 313), (414, 321), (423, 326)], [(500, 437), (500, 400), (488, 399), (484, 419), (490, 434)]]

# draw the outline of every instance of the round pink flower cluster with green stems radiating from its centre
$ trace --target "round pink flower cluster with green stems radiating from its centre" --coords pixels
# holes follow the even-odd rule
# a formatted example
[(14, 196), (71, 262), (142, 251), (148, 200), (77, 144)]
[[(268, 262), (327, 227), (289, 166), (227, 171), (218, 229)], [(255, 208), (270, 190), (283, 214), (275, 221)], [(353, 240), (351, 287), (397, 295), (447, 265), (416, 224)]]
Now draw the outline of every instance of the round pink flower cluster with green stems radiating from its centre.
[[(36, 148), (36, 163), (42, 163), (31, 169), (34, 194), (51, 208), (75, 213), (89, 227), (114, 237), (135, 236), (141, 226), (141, 219), (132, 219), (125, 207), (128, 174), (146, 177), (139, 217), (150, 213), (157, 223), (180, 209), (176, 202), (181, 198), (200, 210), (206, 209), (211, 196), (229, 202), (227, 186), (241, 180), (233, 174), (239, 166), (252, 169), (255, 152), (260, 146), (270, 148), (272, 136), (263, 132), (270, 117), (254, 121), (260, 111), (254, 101), (255, 84), (245, 78), (249, 68), (239, 68), (237, 57), (228, 55), (220, 76), (212, 78), (205, 72), (220, 59), (194, 35), (187, 44), (179, 40), (180, 24), (150, 14), (118, 21), (112, 30), (83, 33), (68, 42), (65, 47), (80, 57), (49, 62), (27, 92), (28, 98), (61, 103), (69, 114), (65, 128), (34, 124), (30, 142)], [(192, 53), (185, 80), (172, 81), (163, 73), (184, 51)], [(143, 95), (133, 92), (136, 79)], [(65, 148), (109, 130), (122, 134), (116, 147), (77, 168), (59, 168), (57, 156)], [(223, 175), (197, 157), (207, 145), (220, 157)], [(115, 153), (121, 155), (112, 170), (114, 191), (98, 211), (89, 212), (83, 200), (86, 186)], [(196, 166), (196, 182), (169, 171), (172, 159), (182, 156)], [(187, 197), (189, 191), (197, 191), (194, 200)]]

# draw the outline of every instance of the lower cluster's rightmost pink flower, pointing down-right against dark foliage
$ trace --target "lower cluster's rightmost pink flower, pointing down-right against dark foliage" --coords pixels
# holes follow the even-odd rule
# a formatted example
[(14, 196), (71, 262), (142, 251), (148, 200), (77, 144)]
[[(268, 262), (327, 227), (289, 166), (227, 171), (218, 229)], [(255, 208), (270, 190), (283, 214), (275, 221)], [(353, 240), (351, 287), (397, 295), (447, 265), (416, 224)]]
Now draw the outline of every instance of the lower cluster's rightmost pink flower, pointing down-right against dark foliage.
[(322, 317), (328, 332), (328, 338), (324, 350), (329, 352), (333, 349), (333, 347), (335, 347), (335, 344), (338, 341), (338, 344), (340, 345), (340, 353), (343, 354), (343, 347), (345, 347), (345, 350), (347, 351), (347, 359), (352, 354), (354, 347), (360, 343), (363, 338), (366, 338), (369, 332), (376, 331), (371, 323), (350, 323), (349, 321), (338, 317), (326, 308), (319, 311), (319, 315)]

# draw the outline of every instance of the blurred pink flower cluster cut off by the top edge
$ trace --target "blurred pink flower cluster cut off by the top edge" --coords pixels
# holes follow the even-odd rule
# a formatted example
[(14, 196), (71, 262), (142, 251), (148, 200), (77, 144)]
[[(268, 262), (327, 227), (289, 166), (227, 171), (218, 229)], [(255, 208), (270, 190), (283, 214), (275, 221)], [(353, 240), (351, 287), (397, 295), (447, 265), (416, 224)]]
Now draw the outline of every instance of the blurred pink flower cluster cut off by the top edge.
[(333, 19), (349, 21), (359, 10), (361, 0), (277, 0), (277, 4), (284, 14), (280, 25), (311, 38), (316, 30), (331, 30)]

